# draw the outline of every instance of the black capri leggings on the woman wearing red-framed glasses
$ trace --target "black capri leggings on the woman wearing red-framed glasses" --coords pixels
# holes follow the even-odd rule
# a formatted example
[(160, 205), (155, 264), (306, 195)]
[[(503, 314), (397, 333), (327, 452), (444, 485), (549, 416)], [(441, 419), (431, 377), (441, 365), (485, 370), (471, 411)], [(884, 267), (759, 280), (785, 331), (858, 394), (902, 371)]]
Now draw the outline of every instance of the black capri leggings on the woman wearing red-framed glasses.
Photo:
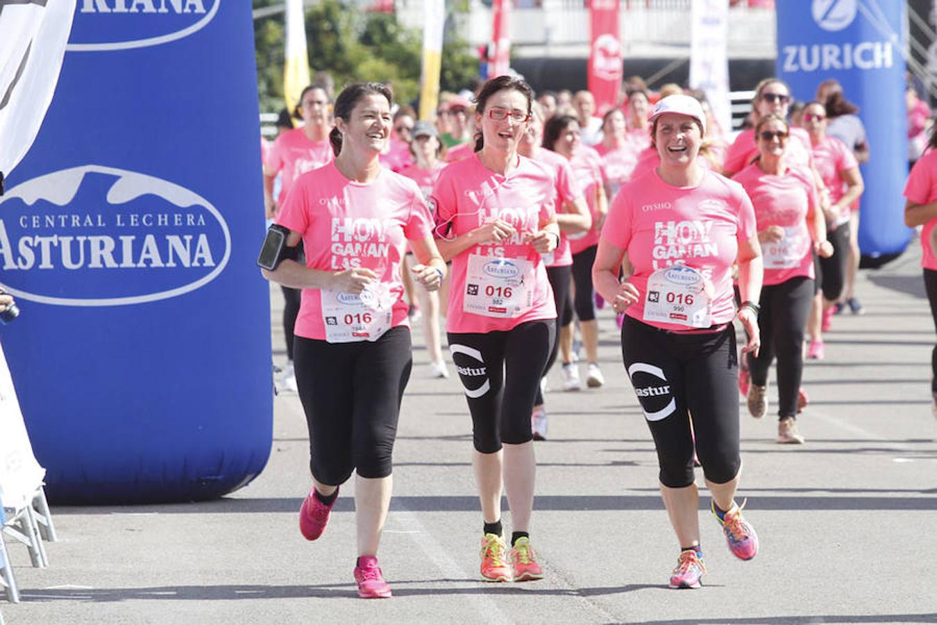
[(556, 334), (552, 319), (527, 321), (507, 331), (448, 333), (477, 451), (494, 454), (502, 442), (519, 445), (533, 439), (530, 412)]

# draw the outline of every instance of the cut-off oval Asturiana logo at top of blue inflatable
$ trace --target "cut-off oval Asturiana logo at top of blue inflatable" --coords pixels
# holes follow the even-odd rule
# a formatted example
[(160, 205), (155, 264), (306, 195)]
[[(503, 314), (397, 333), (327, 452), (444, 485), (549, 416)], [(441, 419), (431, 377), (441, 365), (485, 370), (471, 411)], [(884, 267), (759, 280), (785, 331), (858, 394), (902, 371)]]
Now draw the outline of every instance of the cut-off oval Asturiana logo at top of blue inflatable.
[(129, 50), (175, 41), (204, 28), (220, 4), (221, 0), (77, 0), (67, 51)]

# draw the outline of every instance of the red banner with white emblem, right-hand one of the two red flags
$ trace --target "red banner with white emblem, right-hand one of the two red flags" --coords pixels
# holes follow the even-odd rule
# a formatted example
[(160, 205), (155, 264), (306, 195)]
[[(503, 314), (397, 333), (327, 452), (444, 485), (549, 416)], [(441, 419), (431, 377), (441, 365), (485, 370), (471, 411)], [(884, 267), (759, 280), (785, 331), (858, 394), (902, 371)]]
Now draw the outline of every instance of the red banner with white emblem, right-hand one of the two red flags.
[(590, 0), (589, 26), (588, 90), (595, 97), (596, 112), (601, 116), (618, 103), (621, 88), (618, 0)]

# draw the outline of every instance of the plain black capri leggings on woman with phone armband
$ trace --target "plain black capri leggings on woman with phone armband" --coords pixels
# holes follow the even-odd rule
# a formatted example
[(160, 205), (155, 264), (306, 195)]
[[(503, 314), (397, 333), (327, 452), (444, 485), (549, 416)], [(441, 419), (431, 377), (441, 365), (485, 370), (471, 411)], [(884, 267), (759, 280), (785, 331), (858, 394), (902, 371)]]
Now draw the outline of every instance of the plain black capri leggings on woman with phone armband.
[(309, 469), (322, 484), (351, 472), (383, 478), (393, 469), (400, 400), (413, 360), (405, 326), (378, 340), (327, 343), (296, 336), (296, 382), (309, 426)]

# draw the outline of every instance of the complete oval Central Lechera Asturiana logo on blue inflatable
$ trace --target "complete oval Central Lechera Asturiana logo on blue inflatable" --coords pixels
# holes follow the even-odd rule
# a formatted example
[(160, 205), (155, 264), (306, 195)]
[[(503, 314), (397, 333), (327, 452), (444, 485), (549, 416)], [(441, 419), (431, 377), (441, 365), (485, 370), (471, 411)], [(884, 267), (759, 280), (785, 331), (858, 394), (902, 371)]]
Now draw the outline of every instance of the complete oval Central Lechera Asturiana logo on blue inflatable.
[(230, 256), (231, 232), (210, 201), (136, 171), (53, 171), (0, 198), (3, 283), (24, 300), (155, 302), (208, 284)]

